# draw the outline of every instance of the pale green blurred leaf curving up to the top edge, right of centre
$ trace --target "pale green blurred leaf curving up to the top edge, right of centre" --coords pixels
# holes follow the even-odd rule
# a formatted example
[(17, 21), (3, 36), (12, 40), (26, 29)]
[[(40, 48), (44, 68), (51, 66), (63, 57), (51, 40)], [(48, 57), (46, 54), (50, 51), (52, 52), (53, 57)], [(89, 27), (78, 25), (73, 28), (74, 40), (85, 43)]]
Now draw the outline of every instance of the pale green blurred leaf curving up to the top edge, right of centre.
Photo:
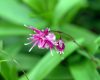
[(54, 12), (54, 23), (58, 23), (59, 20), (71, 9), (74, 9), (76, 5), (83, 4), (84, 0), (59, 0)]

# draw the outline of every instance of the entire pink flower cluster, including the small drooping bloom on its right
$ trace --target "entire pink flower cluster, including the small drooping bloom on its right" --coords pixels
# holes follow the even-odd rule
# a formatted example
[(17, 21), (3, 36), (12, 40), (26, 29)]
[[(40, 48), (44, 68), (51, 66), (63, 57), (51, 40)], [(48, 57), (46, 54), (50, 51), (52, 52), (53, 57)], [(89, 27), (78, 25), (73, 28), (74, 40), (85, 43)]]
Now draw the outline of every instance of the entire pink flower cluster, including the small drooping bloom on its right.
[[(27, 26), (26, 26), (27, 27)], [(35, 33), (31, 34), (28, 40), (30, 40), (29, 43), (26, 43), (25, 45), (32, 44), (32, 47), (29, 49), (29, 52), (34, 48), (34, 46), (38, 46), (41, 49), (50, 49), (51, 55), (52, 54), (52, 49), (56, 47), (57, 51), (62, 54), (65, 45), (63, 40), (60, 38), (59, 40), (56, 41), (56, 36), (54, 33), (50, 32), (50, 29), (45, 29), (45, 30), (39, 30), (37, 28), (34, 28), (32, 26), (27, 27), (31, 30), (33, 30)]]

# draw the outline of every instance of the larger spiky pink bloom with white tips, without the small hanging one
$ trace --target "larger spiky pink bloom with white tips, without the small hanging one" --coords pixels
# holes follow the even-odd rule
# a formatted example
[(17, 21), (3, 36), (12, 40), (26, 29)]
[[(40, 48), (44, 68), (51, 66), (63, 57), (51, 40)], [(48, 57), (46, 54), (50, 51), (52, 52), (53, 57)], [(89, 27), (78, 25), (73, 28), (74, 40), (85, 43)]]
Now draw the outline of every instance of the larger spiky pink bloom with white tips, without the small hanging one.
[(35, 34), (31, 34), (31, 37), (28, 38), (31, 42), (25, 44), (25, 45), (33, 44), (29, 52), (36, 45), (41, 49), (44, 49), (44, 48), (49, 48), (50, 50), (53, 49), (56, 37), (53, 33), (49, 32), (48, 28), (43, 31), (38, 30), (34, 27), (28, 27), (28, 28), (35, 32)]

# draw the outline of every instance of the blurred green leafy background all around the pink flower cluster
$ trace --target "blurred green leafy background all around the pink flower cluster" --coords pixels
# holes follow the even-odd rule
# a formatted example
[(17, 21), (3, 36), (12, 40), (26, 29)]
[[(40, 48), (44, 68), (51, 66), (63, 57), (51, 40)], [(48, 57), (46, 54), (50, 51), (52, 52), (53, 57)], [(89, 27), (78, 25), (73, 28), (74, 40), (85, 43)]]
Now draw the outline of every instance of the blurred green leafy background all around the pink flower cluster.
[[(63, 55), (29, 53), (24, 24), (65, 32), (84, 49), (65, 38)], [(100, 80), (100, 0), (0, 0), (0, 80)]]

